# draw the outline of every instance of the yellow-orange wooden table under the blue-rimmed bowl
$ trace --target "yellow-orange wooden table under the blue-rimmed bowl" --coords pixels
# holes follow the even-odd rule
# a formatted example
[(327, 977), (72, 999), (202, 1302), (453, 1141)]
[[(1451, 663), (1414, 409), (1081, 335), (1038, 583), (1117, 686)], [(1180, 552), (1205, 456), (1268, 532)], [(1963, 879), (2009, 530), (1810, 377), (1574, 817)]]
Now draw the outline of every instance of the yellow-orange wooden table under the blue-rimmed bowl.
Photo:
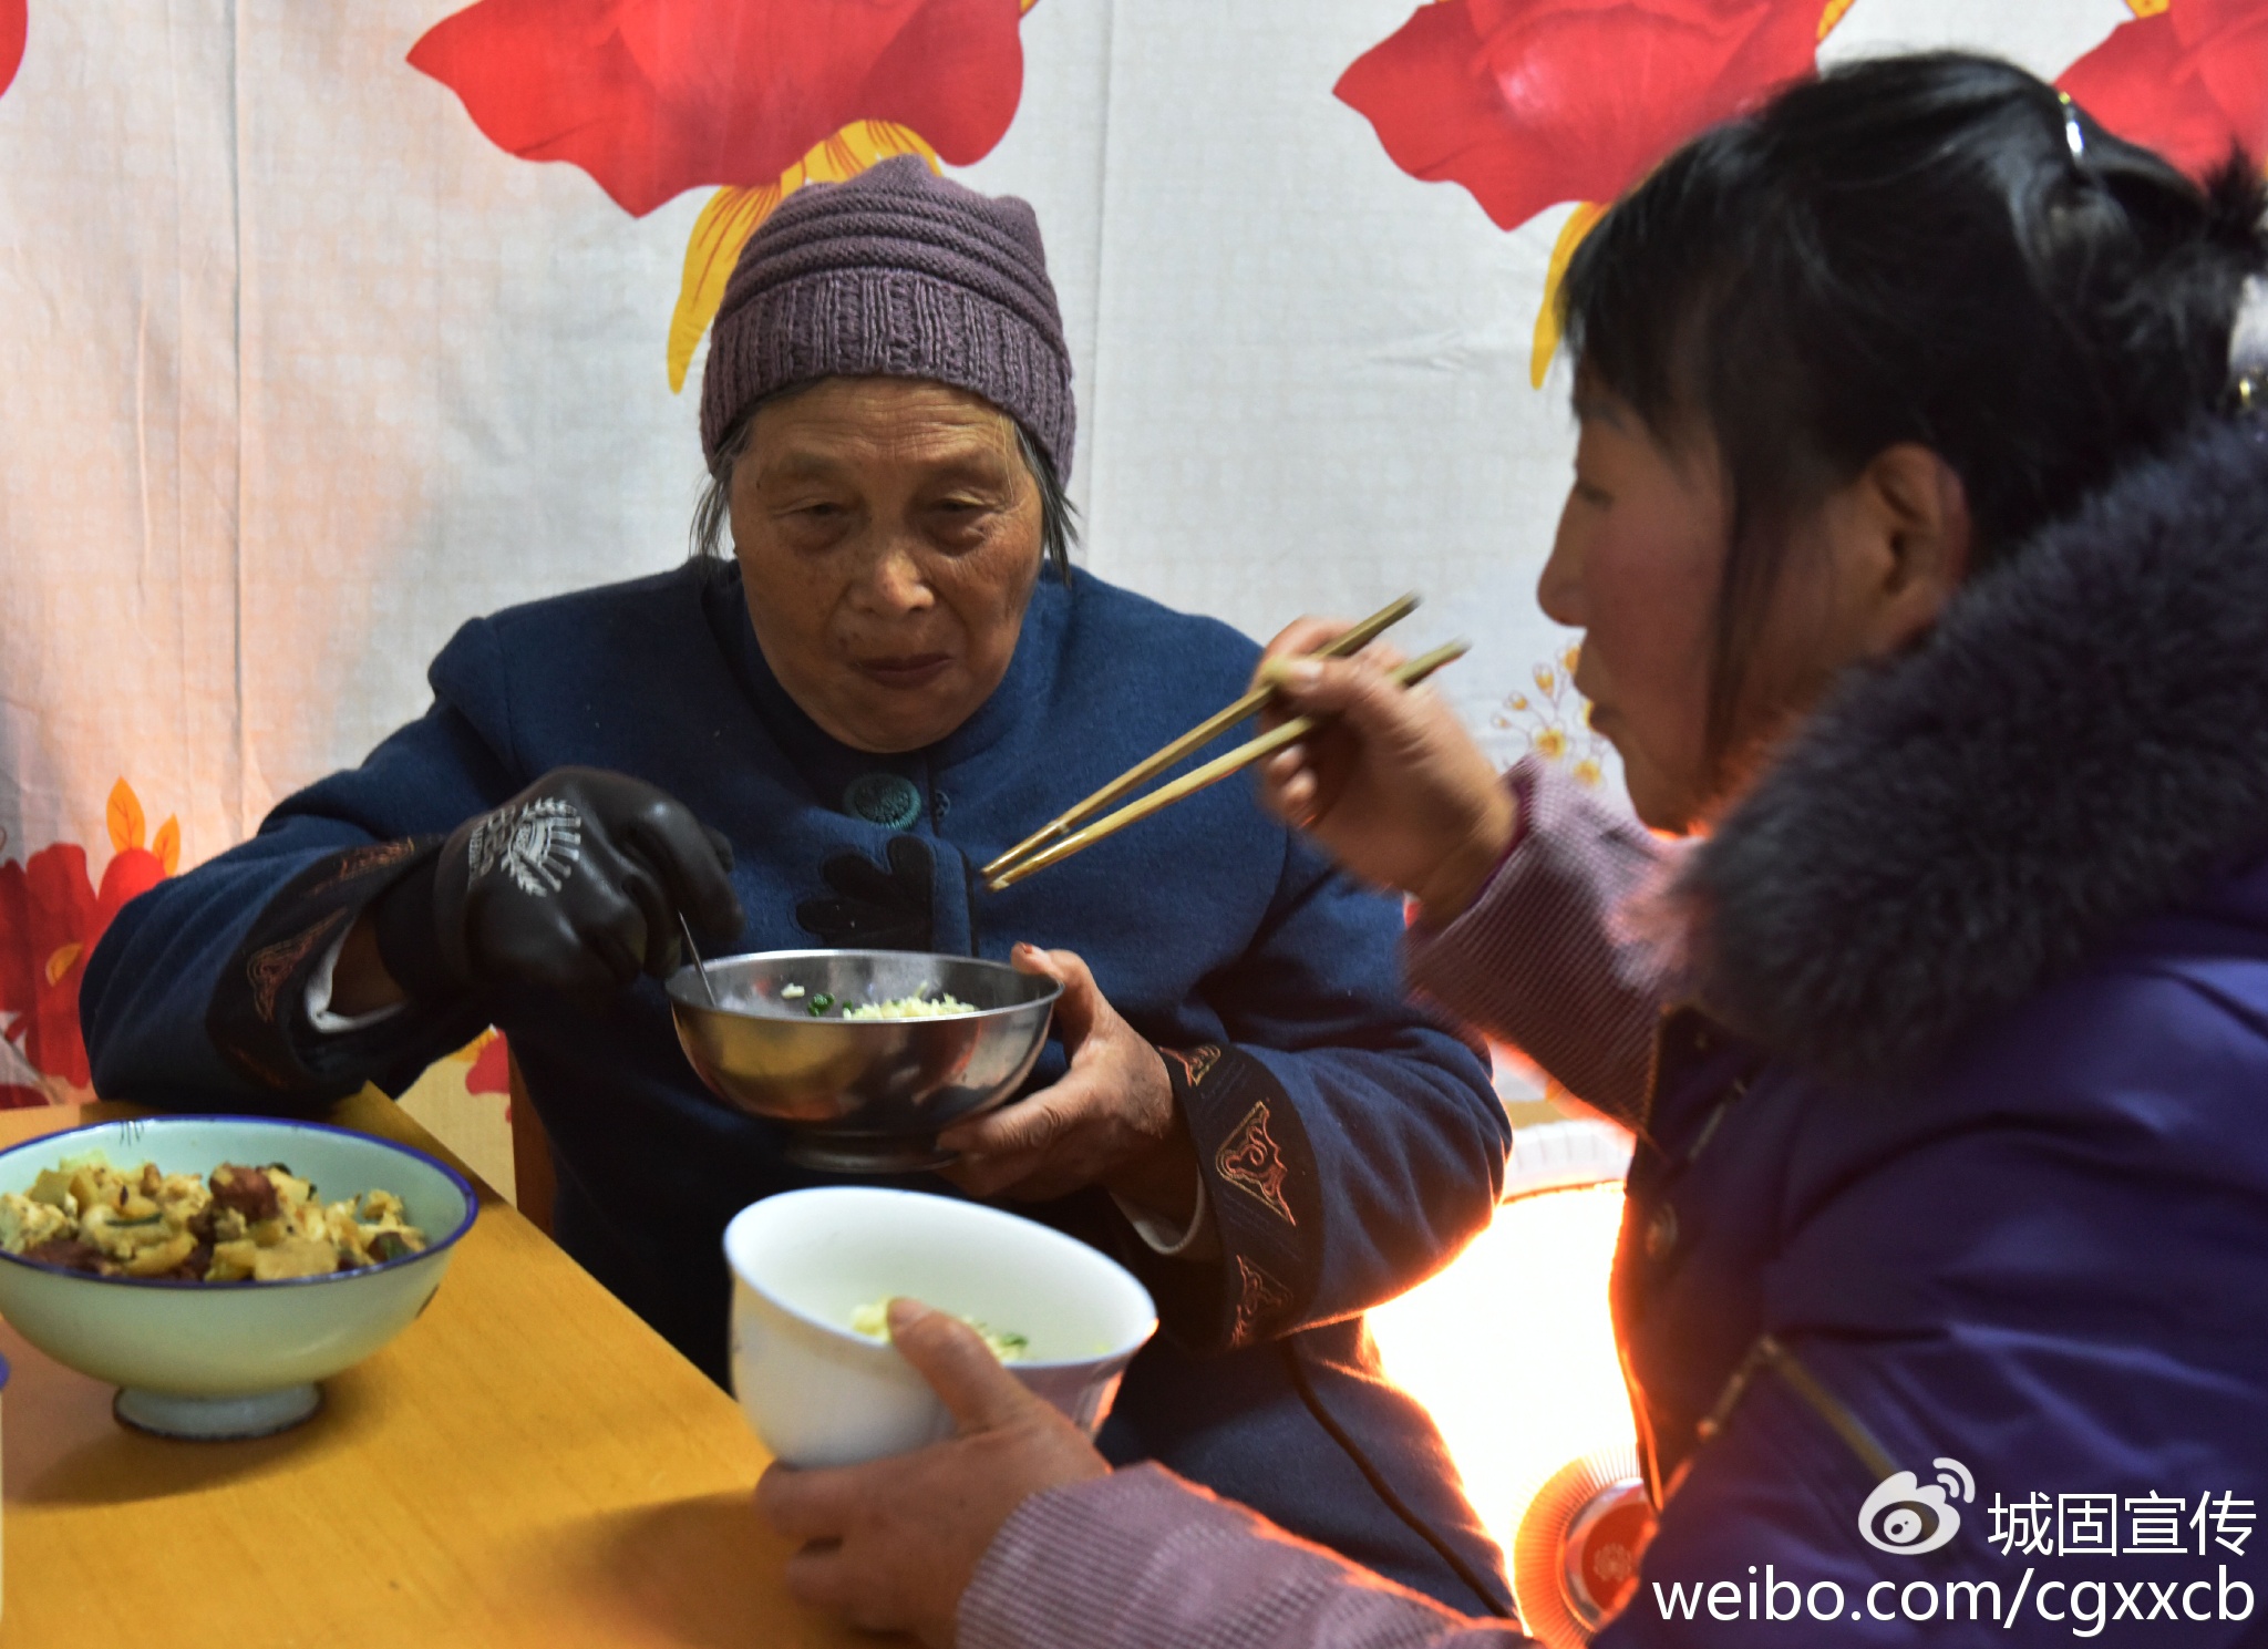
[[(132, 1114), (0, 1111), (0, 1145)], [(331, 1121), (454, 1161), (376, 1091)], [(279, 1438), (147, 1438), (0, 1354), (0, 1649), (878, 1642), (787, 1597), (733, 1399), (485, 1186), (426, 1313)]]

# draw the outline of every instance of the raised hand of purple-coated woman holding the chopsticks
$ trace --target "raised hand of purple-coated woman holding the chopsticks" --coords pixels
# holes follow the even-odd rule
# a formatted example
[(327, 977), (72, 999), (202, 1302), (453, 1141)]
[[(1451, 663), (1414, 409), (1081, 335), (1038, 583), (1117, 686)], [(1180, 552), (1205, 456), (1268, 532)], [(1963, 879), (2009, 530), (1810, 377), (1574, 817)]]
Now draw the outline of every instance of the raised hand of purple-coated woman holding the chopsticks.
[(1395, 683), (1397, 651), (1302, 658), (1347, 628), (1297, 619), (1268, 644), (1254, 676), (1277, 685), (1266, 724), (1329, 721), (1261, 764), (1261, 801), (1361, 880), (1411, 894), (1427, 923), (1454, 921), (1513, 844), (1520, 807), (1447, 701)]

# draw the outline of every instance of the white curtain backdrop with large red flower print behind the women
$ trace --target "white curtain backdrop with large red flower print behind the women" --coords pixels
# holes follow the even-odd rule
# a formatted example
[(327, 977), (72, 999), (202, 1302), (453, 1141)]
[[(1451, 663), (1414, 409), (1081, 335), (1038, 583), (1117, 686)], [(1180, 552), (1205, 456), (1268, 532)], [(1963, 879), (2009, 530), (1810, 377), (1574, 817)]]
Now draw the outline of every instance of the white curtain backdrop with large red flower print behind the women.
[(723, 274), (885, 154), (1039, 209), (1086, 565), (1254, 635), (1422, 590), (1490, 746), (1613, 789), (1531, 599), (1549, 286), (1699, 125), (1941, 43), (2268, 147), (2268, 0), (0, 0), (0, 1102), (458, 621), (685, 553)]

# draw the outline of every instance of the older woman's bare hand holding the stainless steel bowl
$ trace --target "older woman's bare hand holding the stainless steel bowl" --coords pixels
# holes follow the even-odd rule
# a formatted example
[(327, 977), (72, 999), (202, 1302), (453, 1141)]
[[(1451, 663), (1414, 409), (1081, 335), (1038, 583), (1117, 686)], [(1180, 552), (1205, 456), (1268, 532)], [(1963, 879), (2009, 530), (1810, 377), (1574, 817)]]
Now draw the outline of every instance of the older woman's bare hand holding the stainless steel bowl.
[(1055, 1030), (1070, 1068), (1055, 1086), (946, 1130), (937, 1143), (959, 1152), (946, 1177), (978, 1198), (1041, 1202), (1100, 1184), (1166, 1218), (1195, 1214), (1198, 1157), (1166, 1059), (1075, 953), (1016, 946), (1014, 964), (1064, 987)]

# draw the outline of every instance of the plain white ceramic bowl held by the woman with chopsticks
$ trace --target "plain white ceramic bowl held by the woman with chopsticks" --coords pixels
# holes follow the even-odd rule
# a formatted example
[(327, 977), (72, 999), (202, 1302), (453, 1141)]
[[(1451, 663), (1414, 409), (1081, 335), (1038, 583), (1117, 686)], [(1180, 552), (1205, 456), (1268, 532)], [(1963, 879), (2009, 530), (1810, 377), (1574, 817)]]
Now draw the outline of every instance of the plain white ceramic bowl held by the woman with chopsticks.
[(1009, 1372), (1093, 1431), (1157, 1331), (1150, 1291), (1118, 1261), (982, 1202), (816, 1186), (782, 1191), (723, 1234), (733, 1266), (733, 1390), (789, 1465), (853, 1465), (953, 1436), (898, 1352), (850, 1313), (909, 1295), (1023, 1334)]

